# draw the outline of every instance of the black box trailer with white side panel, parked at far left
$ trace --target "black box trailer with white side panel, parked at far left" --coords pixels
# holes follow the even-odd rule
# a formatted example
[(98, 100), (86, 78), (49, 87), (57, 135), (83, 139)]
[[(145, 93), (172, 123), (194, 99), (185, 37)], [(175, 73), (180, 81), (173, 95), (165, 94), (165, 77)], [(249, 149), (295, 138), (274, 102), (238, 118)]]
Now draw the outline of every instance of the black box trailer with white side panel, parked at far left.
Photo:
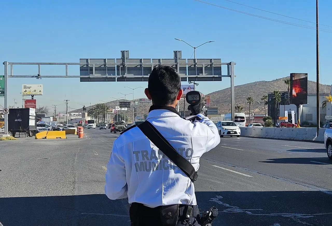
[(26, 133), (29, 137), (36, 134), (36, 109), (11, 108), (8, 114), (8, 132), (15, 137), (16, 133)]

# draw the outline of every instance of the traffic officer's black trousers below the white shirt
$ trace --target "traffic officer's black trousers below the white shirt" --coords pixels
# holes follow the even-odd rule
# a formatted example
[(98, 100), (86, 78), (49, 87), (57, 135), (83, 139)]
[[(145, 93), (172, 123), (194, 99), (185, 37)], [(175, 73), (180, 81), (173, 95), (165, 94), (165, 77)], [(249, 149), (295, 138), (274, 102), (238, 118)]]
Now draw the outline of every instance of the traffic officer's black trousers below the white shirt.
[(177, 224), (165, 224), (162, 221), (162, 206), (150, 208), (141, 203), (132, 203), (129, 209), (131, 226), (200, 226), (200, 210), (197, 205), (191, 207), (190, 223), (184, 222), (188, 205), (180, 204)]

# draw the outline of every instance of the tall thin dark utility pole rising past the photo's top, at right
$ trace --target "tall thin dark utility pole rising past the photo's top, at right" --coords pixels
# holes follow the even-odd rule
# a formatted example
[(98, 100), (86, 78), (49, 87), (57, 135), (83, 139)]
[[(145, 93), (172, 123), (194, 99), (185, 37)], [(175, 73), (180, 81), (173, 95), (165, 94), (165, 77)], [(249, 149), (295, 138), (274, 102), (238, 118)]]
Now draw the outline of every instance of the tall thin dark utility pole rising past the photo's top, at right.
[(319, 113), (319, 41), (318, 41), (318, 0), (316, 0), (316, 114), (317, 114), (317, 137), (320, 127)]

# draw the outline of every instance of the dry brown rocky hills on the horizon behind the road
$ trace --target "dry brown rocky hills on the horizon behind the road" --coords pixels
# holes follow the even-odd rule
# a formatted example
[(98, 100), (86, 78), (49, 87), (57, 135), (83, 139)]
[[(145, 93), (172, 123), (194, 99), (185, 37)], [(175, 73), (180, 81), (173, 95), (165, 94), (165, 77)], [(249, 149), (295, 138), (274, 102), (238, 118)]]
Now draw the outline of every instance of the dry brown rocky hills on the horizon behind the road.
[[(247, 97), (253, 97), (254, 102), (251, 104), (253, 113), (264, 113), (264, 102), (261, 101), (262, 96), (267, 95), (268, 93), (272, 93), (274, 90), (287, 91), (288, 87), (284, 82), (287, 78), (289, 77), (279, 78), (272, 81), (251, 82), (235, 86), (235, 106), (239, 105), (247, 109), (248, 104), (246, 99)], [(329, 93), (331, 86), (320, 84), (320, 92), (324, 93), (325, 89), (326, 93)], [(308, 81), (308, 93), (316, 93), (316, 82)], [(210, 107), (218, 108), (218, 113), (223, 114), (230, 112), (230, 88), (215, 91), (206, 95), (210, 95)], [(138, 99), (135, 101), (138, 101)], [(107, 105), (110, 105), (113, 109), (115, 109), (116, 104), (117, 101), (107, 102)], [(87, 107), (87, 109), (89, 109), (89, 107)], [(148, 113), (149, 107), (150, 103), (143, 103), (143, 105), (142, 103), (139, 103), (139, 106), (136, 108), (137, 115), (143, 116), (144, 114)], [(180, 109), (183, 110), (183, 100), (180, 101)], [(71, 112), (81, 111), (82, 109), (77, 109)], [(130, 118), (132, 118), (132, 109), (126, 111), (126, 115), (131, 115)]]

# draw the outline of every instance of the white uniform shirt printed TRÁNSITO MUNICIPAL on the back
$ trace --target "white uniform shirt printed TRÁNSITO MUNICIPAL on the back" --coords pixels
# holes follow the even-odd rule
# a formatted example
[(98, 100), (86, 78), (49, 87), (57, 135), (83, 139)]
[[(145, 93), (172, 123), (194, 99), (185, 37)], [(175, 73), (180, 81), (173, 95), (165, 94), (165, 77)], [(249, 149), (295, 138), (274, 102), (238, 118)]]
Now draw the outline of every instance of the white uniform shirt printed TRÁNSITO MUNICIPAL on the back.
[[(147, 117), (196, 171), (201, 156), (220, 143), (215, 124), (202, 114), (197, 116), (203, 119), (191, 122), (160, 109), (152, 110)], [(114, 141), (105, 179), (105, 194), (111, 200), (128, 198), (129, 203), (143, 203), (152, 208), (197, 205), (194, 183), (137, 127)]]

